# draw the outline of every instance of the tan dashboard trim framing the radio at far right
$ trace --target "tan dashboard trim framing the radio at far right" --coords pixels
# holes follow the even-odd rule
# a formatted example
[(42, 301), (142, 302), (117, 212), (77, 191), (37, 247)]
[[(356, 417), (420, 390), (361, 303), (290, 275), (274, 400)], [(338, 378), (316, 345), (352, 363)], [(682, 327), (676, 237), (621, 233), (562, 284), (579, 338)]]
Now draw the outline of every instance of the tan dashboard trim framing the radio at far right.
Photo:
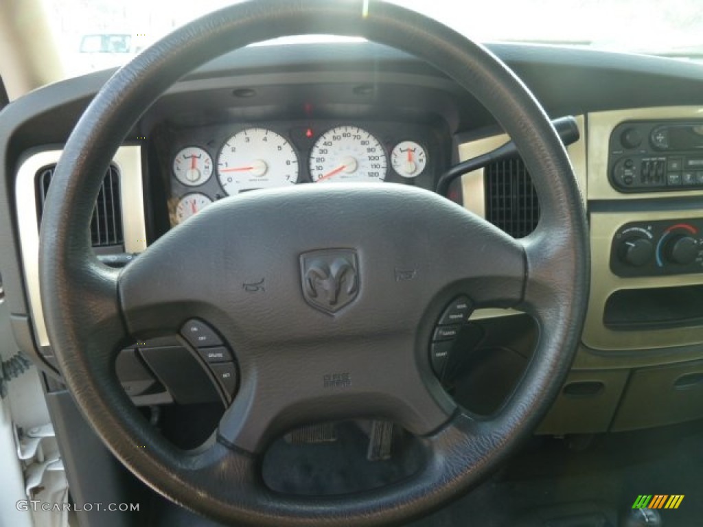
[(653, 197), (699, 196), (703, 190), (679, 192), (619, 193), (608, 180), (608, 150), (610, 134), (615, 126), (638, 119), (703, 119), (701, 106), (634, 108), (588, 114), (588, 199), (642, 200)]

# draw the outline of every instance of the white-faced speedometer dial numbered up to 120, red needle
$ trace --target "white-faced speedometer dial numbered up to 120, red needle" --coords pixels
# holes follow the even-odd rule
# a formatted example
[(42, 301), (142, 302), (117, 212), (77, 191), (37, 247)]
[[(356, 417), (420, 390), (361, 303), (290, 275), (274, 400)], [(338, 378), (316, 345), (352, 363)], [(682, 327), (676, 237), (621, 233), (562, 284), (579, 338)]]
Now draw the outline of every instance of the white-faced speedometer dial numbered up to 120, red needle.
[(381, 143), (358, 126), (328, 130), (310, 152), (310, 177), (315, 183), (383, 181), (386, 169)]

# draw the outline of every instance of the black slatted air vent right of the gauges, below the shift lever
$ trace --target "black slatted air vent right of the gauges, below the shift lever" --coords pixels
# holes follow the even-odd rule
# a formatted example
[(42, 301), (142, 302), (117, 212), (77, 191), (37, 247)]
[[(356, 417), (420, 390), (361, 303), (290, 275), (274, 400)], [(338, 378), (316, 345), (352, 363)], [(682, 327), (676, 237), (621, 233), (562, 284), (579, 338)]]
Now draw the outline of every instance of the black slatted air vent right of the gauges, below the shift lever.
[(484, 178), (486, 219), (513, 238), (531, 233), (539, 221), (539, 201), (522, 159), (489, 164)]

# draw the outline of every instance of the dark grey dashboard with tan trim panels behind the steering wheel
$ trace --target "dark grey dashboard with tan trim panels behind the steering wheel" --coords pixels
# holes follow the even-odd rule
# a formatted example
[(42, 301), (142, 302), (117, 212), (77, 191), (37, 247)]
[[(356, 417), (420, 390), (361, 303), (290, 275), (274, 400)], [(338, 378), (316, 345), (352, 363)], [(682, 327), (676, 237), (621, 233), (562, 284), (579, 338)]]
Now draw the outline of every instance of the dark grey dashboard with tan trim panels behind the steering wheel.
[[(398, 51), (369, 43), (269, 49), (201, 67), (135, 124), (112, 162), (119, 189), (108, 174), (99, 198), (112, 207), (114, 230), (105, 224), (112, 242), (94, 245), (108, 264), (129, 265), (217, 200), (358, 181), (434, 190), (451, 167), (510, 139), (472, 96)], [(590, 299), (576, 360), (539, 431), (621, 431), (702, 417), (703, 69), (519, 44), (492, 51), (550, 117), (574, 116), (580, 133), (567, 150), (588, 212)], [(47, 86), (0, 114), (0, 236), (15, 249), (0, 255), (0, 266), (13, 330), (57, 382), (39, 298), (41, 181), (108, 75)], [(519, 157), (465, 174), (447, 197), (516, 238), (539, 221)], [(472, 313), (467, 332), (454, 346), (457, 358), (435, 372), (463, 404), (490, 413), (520, 378), (538, 328), (522, 313), (490, 309)], [(231, 377), (223, 384), (179, 354), (182, 344), (134, 344), (120, 355), (118, 373), (136, 404), (230, 400)], [(187, 379), (174, 379), (183, 371)]]

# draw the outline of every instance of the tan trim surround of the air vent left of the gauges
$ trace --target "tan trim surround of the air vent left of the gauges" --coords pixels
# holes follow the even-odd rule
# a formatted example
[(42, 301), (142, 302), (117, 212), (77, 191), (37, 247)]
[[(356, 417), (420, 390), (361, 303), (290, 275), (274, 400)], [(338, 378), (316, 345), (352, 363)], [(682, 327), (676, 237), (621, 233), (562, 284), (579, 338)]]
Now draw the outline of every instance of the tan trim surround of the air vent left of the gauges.
[[(30, 302), (34, 334), (39, 346), (49, 346), (49, 336), (46, 333), (44, 315), (41, 311), (41, 295), (39, 294), (39, 226), (37, 225), (37, 208), (34, 206), (37, 203), (34, 178), (39, 169), (56, 164), (60, 156), (61, 150), (45, 150), (28, 157), (20, 165), (15, 188), (22, 268), (25, 274), (25, 287), (27, 287), (27, 297)], [(120, 172), (125, 250), (127, 252), (142, 252), (146, 249), (146, 226), (144, 222), (141, 147), (120, 147), (112, 163)]]

